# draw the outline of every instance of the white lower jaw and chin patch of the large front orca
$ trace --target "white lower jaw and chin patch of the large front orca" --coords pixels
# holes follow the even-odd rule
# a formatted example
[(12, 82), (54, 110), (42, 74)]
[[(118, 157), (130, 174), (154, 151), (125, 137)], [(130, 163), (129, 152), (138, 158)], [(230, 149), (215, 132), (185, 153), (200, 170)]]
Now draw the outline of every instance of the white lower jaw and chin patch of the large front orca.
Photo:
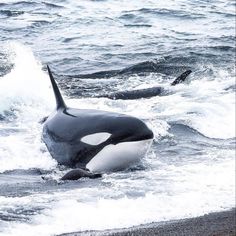
[(152, 139), (107, 145), (86, 165), (92, 172), (126, 169), (139, 162), (147, 153)]

